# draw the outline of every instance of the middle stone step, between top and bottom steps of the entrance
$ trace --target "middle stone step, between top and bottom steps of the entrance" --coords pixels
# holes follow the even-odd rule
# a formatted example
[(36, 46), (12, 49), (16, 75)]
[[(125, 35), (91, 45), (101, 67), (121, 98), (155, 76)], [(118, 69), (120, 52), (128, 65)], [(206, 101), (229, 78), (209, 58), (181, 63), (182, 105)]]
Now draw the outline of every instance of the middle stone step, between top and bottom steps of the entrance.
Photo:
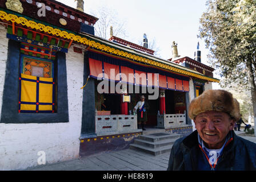
[(138, 144), (138, 145), (149, 147), (149, 148), (158, 148), (163, 146), (170, 146), (175, 142), (175, 140), (177, 140), (177, 138), (159, 140), (157, 142), (150, 142), (149, 140), (143, 140), (143, 139), (134, 139), (134, 144)]

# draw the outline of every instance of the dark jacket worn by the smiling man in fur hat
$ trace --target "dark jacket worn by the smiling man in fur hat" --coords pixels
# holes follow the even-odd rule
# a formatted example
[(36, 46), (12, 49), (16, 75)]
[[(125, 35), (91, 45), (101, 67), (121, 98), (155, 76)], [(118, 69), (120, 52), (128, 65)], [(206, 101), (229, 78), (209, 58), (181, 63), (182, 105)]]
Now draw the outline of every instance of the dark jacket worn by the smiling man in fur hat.
[[(223, 154), (218, 159), (214, 168), (216, 171), (238, 170), (248, 171), (256, 170), (256, 144), (249, 140), (235, 135), (230, 131), (233, 140), (228, 143)], [(198, 132), (195, 130), (187, 137), (179, 138), (171, 148), (168, 171), (192, 171), (202, 170), (199, 165), (205, 166), (205, 170), (211, 170), (206, 156), (199, 148)]]

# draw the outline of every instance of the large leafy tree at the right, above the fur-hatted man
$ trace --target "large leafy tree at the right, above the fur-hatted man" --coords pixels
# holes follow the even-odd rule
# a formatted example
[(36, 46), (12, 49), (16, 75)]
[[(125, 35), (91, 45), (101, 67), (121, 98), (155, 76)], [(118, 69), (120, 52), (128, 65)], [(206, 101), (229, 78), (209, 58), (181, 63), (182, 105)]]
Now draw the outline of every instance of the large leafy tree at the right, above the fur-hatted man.
[(224, 85), (249, 88), (256, 123), (256, 1), (208, 0), (200, 19), (199, 38), (210, 49), (209, 58)]

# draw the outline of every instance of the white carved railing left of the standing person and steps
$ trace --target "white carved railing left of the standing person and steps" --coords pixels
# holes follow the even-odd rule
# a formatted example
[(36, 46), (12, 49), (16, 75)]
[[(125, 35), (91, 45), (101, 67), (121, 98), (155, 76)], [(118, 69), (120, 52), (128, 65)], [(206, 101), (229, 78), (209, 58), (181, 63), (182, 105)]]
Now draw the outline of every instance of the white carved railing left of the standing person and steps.
[(95, 125), (98, 136), (138, 132), (137, 115), (96, 115)]

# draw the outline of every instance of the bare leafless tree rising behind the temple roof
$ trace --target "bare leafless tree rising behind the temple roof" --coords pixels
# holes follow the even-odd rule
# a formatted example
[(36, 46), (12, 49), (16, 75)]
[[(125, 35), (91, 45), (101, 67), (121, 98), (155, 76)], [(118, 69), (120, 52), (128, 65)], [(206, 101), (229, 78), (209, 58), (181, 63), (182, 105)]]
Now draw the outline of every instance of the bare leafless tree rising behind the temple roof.
[(109, 9), (108, 7), (99, 7), (97, 11), (94, 11), (94, 16), (99, 18), (95, 23), (94, 30), (95, 35), (109, 39), (110, 38), (110, 27), (113, 27), (113, 35), (126, 38), (125, 20), (118, 19), (118, 13), (115, 10)]

